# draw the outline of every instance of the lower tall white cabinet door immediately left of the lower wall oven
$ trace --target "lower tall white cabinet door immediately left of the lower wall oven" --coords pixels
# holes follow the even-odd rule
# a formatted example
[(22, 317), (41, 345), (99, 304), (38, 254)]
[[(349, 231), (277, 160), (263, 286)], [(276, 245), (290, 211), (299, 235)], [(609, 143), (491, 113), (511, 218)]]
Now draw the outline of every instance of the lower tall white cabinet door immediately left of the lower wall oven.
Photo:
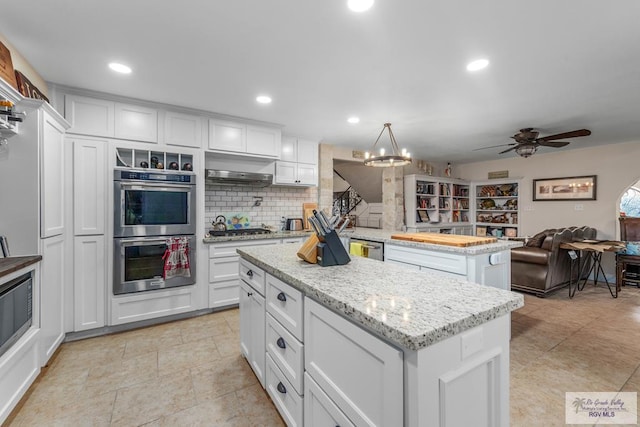
[(73, 330), (105, 326), (107, 292), (104, 236), (78, 236), (73, 241)]

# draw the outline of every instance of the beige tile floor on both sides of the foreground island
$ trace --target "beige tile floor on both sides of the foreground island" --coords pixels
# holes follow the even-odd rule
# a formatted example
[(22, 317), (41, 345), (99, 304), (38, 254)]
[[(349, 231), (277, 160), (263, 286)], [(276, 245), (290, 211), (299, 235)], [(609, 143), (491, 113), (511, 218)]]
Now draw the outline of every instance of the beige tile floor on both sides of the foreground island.
[[(566, 391), (640, 391), (640, 289), (525, 296), (511, 425), (564, 426)], [(240, 356), (238, 310), (63, 344), (10, 426), (282, 426)]]

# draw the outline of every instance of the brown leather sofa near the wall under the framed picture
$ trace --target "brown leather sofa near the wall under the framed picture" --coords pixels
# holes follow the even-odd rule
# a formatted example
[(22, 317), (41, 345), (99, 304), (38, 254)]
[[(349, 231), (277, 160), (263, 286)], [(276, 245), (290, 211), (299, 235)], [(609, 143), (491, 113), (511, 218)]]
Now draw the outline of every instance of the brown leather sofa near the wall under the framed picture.
[[(525, 246), (511, 249), (511, 289), (544, 297), (566, 286), (571, 274), (571, 260), (560, 245), (595, 239), (596, 234), (595, 228), (587, 226), (547, 229), (529, 239)], [(588, 266), (583, 274), (586, 271)]]

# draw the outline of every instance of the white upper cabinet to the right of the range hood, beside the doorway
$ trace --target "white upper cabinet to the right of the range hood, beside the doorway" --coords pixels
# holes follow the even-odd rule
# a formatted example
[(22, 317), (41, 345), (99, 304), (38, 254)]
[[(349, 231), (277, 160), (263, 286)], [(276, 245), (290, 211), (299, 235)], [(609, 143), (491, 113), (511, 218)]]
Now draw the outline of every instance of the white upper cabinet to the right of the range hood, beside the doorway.
[(275, 184), (318, 185), (318, 144), (304, 139), (282, 138), (280, 161), (276, 162)]

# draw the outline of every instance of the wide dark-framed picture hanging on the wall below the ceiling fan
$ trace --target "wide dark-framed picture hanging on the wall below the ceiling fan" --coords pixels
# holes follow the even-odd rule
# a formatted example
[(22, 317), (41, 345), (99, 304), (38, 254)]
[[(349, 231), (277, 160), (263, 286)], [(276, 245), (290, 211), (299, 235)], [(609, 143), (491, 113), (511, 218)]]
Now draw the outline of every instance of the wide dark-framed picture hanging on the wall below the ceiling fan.
[(533, 180), (533, 201), (596, 200), (596, 175)]

